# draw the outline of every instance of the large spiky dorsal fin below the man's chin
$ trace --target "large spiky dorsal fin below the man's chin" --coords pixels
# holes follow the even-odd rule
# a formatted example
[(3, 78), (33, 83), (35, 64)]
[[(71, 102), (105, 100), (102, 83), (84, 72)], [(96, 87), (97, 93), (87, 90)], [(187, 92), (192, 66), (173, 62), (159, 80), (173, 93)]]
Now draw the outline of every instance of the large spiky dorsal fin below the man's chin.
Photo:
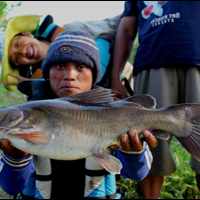
[(114, 101), (117, 91), (108, 88), (96, 88), (79, 94), (71, 95), (70, 97), (59, 98), (62, 101), (69, 101), (75, 104), (86, 105), (105, 105)]

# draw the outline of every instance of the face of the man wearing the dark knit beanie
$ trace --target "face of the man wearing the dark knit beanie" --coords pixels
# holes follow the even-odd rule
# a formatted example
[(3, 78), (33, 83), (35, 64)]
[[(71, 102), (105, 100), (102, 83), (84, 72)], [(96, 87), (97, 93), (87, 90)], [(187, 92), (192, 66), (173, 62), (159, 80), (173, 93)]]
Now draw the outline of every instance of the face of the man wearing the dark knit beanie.
[(92, 70), (77, 62), (52, 65), (50, 85), (57, 97), (67, 97), (92, 88)]

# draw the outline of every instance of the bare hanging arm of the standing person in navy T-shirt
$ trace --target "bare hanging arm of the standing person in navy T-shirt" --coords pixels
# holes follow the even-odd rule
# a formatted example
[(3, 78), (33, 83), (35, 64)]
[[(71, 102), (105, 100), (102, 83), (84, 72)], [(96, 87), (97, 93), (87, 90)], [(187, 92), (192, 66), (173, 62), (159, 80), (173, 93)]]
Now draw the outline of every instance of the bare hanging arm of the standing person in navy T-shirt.
[(123, 17), (114, 41), (110, 87), (120, 93), (120, 99), (125, 98), (125, 88), (121, 84), (120, 74), (131, 54), (137, 30), (138, 22), (136, 16)]

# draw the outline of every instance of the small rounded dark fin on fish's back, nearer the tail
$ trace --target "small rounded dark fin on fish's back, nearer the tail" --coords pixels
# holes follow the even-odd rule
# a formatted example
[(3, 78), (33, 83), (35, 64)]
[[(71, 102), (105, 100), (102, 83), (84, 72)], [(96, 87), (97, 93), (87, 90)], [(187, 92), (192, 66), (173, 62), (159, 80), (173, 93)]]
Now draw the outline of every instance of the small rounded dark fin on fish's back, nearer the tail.
[(122, 101), (134, 102), (149, 109), (155, 109), (156, 107), (156, 99), (148, 94), (127, 97), (123, 99)]

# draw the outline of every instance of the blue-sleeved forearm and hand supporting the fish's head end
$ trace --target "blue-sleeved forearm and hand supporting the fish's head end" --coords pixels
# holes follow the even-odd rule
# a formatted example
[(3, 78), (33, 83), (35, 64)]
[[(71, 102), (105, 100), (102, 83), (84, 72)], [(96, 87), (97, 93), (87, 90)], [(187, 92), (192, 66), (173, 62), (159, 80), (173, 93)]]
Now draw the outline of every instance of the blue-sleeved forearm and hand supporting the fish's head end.
[(34, 172), (32, 155), (10, 145), (6, 139), (0, 140), (0, 185), (9, 195), (16, 195), (27, 185)]

